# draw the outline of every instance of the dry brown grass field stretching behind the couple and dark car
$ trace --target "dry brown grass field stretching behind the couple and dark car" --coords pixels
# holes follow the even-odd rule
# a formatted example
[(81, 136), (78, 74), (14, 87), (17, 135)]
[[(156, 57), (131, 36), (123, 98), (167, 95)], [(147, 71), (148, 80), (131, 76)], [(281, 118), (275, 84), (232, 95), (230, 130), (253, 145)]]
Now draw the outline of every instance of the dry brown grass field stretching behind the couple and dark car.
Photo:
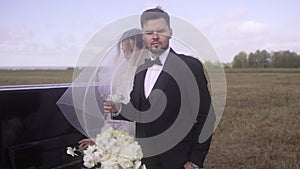
[[(0, 71), (0, 85), (68, 83), (72, 71)], [(226, 70), (227, 100), (206, 168), (300, 168), (300, 69)]]

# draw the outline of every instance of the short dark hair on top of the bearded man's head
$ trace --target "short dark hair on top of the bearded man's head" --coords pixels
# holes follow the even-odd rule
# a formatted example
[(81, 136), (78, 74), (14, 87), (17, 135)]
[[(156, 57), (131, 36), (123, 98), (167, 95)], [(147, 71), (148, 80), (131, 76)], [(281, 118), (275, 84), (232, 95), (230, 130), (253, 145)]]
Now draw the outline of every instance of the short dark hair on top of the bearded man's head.
[(141, 18), (140, 18), (142, 28), (144, 27), (144, 23), (147, 22), (148, 20), (159, 19), (159, 18), (163, 18), (166, 21), (169, 28), (171, 28), (170, 27), (170, 16), (167, 12), (162, 10), (160, 6), (151, 8), (151, 9), (147, 9), (142, 13)]

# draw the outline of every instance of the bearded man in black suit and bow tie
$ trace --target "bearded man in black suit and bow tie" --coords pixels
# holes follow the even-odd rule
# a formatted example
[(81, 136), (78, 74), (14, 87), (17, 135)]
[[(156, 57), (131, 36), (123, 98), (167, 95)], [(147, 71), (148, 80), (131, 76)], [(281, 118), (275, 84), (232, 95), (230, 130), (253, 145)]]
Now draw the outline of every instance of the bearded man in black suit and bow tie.
[[(202, 64), (170, 48), (172, 29), (165, 11), (148, 9), (140, 21), (150, 59), (137, 70), (131, 104), (122, 105), (114, 118), (134, 114), (138, 139), (162, 138), (141, 143), (144, 154), (151, 154), (143, 159), (148, 169), (202, 168), (211, 142), (211, 136), (198, 141), (211, 105)], [(115, 112), (114, 105), (105, 104), (104, 109)], [(160, 147), (164, 144), (166, 150)]]

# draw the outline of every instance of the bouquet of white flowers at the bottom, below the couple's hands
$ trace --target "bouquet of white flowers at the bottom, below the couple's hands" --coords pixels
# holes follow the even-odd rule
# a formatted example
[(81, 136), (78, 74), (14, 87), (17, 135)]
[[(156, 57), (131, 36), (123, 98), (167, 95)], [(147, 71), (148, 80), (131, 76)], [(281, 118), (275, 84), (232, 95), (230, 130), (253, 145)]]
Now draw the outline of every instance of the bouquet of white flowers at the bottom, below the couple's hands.
[[(67, 154), (78, 155), (76, 148), (68, 147)], [(126, 131), (104, 129), (96, 137), (96, 144), (83, 150), (83, 165), (100, 169), (146, 169), (141, 165), (143, 152), (135, 138)]]

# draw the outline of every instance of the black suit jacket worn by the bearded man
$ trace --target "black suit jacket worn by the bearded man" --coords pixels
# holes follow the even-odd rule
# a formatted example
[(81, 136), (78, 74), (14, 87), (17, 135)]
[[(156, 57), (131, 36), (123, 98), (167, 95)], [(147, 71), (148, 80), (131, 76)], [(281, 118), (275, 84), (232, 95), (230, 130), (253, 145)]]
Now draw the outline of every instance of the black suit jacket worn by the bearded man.
[(116, 119), (134, 114), (135, 119), (131, 116), (131, 120), (137, 121), (136, 137), (140, 139), (162, 134), (161, 142), (141, 142), (144, 152), (155, 154), (161, 150), (160, 144), (170, 145), (167, 151), (144, 158), (146, 165), (159, 161), (166, 169), (177, 169), (192, 161), (202, 167), (211, 141), (210, 137), (204, 143), (198, 142), (211, 104), (202, 64), (171, 49), (148, 98), (144, 95), (146, 72), (144, 65), (138, 68), (131, 104), (123, 105), (121, 116)]

